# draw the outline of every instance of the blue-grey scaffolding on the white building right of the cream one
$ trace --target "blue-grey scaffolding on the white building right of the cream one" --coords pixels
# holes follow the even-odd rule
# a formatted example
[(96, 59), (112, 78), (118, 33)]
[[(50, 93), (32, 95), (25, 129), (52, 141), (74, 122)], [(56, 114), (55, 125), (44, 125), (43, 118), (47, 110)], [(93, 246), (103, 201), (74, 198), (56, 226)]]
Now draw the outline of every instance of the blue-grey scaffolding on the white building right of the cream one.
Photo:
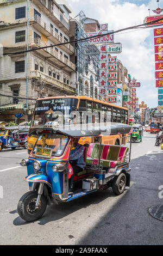
[[(86, 16), (83, 11), (74, 18), (75, 20), (75, 40), (87, 38), (88, 35), (85, 32), (85, 20)], [(90, 45), (88, 40), (77, 42), (75, 45), (76, 56), (76, 70), (78, 74), (78, 94), (87, 95), (84, 81), (90, 77), (90, 84), (92, 84), (92, 72), (95, 74), (95, 81), (99, 81), (99, 48), (96, 45)], [(90, 65), (93, 65), (93, 70), (90, 69)], [(91, 88), (93, 92), (93, 88)], [(97, 92), (95, 93), (97, 94)], [(91, 96), (92, 93), (91, 93)], [(96, 95), (95, 95), (96, 96)]]

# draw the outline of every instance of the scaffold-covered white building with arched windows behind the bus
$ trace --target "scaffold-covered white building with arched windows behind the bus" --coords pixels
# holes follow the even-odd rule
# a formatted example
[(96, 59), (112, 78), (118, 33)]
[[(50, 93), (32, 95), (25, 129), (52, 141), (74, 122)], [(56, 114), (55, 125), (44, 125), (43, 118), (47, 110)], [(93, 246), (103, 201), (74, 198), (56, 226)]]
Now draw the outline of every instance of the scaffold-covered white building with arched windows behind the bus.
[[(83, 11), (70, 21), (70, 31), (75, 31), (74, 40), (87, 38), (88, 33), (98, 30), (98, 21), (87, 18)], [(78, 95), (99, 99), (99, 48), (88, 41), (76, 42), (73, 46), (75, 55), (72, 62), (76, 63)]]

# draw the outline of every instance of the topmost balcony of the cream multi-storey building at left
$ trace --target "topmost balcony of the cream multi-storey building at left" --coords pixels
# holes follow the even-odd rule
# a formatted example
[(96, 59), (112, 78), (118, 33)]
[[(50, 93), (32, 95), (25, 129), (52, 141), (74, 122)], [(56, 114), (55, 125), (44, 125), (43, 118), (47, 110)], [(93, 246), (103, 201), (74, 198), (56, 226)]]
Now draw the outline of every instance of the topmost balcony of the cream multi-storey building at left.
[[(45, 14), (52, 19), (52, 21), (57, 24), (57, 26), (64, 31), (67, 35), (70, 35), (70, 23), (67, 18), (62, 14), (60, 7), (58, 7), (58, 12), (54, 7), (48, 7), (46, 0), (33, 0), (40, 9), (42, 9)], [(50, 8), (50, 9), (49, 9)]]

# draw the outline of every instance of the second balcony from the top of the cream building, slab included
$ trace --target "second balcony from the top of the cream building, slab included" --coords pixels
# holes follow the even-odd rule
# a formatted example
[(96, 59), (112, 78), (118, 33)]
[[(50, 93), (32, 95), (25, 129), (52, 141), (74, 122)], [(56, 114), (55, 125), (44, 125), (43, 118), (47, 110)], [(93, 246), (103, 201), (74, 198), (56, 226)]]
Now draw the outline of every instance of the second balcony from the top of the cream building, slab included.
[[(60, 44), (66, 42), (57, 32), (54, 31), (45, 21), (43, 21), (39, 15), (35, 15), (30, 19), (33, 21), (33, 27), (38, 29), (42, 34), (46, 35), (48, 39), (52, 40), (54, 44)], [(74, 47), (71, 44), (59, 46), (68, 54), (74, 53)]]

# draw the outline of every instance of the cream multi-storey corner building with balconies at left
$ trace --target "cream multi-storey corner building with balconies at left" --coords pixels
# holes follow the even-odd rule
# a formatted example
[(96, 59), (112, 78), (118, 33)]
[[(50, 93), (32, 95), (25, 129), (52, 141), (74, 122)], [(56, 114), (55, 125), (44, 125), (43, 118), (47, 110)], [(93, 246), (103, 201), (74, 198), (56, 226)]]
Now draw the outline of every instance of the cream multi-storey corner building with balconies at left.
[(74, 36), (71, 11), (54, 0), (0, 0), (0, 13), (0, 120), (14, 120), (15, 112), (30, 119), (32, 99), (76, 92), (74, 47), (58, 45)]

